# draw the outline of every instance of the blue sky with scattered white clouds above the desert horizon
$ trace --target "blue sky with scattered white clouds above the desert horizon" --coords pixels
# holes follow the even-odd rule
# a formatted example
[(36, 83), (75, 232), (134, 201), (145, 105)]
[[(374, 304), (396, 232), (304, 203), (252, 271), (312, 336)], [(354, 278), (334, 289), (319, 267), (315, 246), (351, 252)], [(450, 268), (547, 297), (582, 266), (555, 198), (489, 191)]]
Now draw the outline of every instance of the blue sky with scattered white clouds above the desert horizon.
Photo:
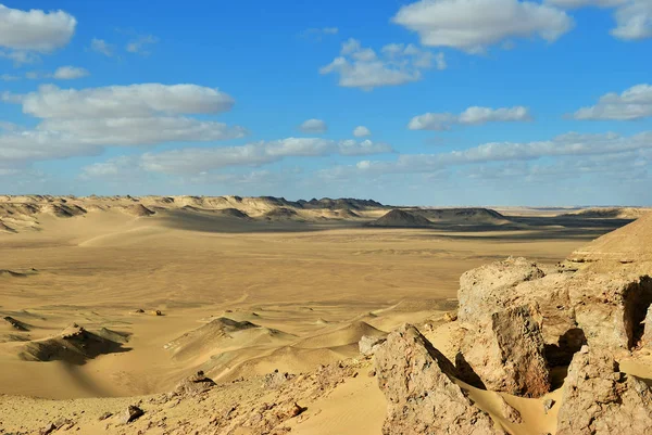
[(652, 0), (0, 0), (0, 193), (652, 205)]

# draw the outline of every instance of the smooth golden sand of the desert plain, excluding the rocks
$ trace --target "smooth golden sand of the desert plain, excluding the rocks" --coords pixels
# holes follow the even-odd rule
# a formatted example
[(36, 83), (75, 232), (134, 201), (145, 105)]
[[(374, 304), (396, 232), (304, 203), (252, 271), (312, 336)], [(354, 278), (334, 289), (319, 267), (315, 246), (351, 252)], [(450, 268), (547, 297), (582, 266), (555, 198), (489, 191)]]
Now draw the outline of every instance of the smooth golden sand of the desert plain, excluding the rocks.
[[(168, 392), (197, 370), (243, 388), (231, 381), (354, 360), (362, 335), (440, 321), (464, 271), (510, 255), (552, 265), (622, 225), (386, 229), (365, 227), (388, 212), (376, 206), (184, 197), (171, 209), (167, 201), (68, 199), (4, 219), (17, 232), (0, 232), (0, 318), (28, 331), (0, 320), (0, 433), (73, 412), (77, 433), (99, 433), (95, 413)], [(206, 208), (215, 203), (222, 212)], [(25, 360), (26, 346), (58, 343), (72, 323), (125, 340), (88, 357)], [(446, 347), (450, 337), (432, 340)], [(292, 433), (378, 434), (385, 399), (366, 371), (302, 404)], [(494, 394), (469, 391), (491, 412)], [(221, 400), (239, 397), (229, 392)], [(537, 400), (507, 398), (521, 402), (524, 427), (546, 432), (552, 418)], [(38, 419), (27, 427), (25, 415)]]

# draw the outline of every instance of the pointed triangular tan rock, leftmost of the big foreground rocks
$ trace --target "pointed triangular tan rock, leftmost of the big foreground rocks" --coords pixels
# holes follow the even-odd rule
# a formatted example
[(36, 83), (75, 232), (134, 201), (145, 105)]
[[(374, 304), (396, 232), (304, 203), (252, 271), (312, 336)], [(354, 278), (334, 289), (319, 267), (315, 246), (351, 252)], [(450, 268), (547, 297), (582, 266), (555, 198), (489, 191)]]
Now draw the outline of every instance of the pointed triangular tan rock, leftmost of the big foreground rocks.
[(375, 366), (388, 401), (385, 435), (504, 434), (451, 380), (454, 366), (414, 327), (390, 333)]

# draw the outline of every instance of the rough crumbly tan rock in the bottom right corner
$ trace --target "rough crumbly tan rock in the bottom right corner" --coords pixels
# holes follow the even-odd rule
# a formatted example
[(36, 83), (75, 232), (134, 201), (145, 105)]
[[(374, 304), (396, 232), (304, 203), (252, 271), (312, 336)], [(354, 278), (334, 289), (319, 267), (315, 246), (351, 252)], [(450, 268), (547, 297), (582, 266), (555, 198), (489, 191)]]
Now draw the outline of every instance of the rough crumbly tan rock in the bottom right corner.
[(652, 428), (652, 391), (618, 371), (604, 348), (582, 347), (564, 383), (556, 435), (644, 435)]

